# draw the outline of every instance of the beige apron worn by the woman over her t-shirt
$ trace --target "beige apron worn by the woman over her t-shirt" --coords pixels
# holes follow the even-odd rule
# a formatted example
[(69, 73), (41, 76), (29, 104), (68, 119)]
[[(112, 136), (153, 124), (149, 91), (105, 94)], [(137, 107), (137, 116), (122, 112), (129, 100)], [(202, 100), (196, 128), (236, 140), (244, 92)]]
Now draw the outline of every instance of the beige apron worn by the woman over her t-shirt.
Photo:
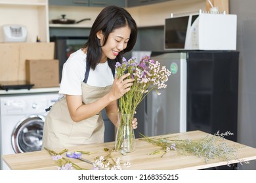
[[(110, 92), (111, 86), (95, 87), (82, 82), (83, 103), (89, 104)], [(74, 122), (70, 117), (66, 98), (57, 101), (45, 120), (43, 146), (47, 148), (68, 148), (83, 144), (104, 142), (102, 114)]]

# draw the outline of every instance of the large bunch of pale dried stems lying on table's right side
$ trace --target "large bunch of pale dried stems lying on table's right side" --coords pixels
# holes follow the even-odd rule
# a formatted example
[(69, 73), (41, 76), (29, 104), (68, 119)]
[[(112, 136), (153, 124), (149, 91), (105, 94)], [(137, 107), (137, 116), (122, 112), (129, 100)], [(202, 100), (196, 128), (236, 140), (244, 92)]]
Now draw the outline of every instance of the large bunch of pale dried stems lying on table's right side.
[(209, 134), (203, 139), (192, 141), (190, 139), (175, 139), (175, 137), (150, 138), (140, 133), (141, 140), (161, 147), (160, 150), (155, 150), (150, 155), (162, 154), (161, 157), (163, 157), (167, 152), (173, 150), (184, 156), (203, 158), (205, 163), (210, 161), (210, 159), (216, 158), (226, 161), (227, 165), (234, 159), (239, 160), (240, 164), (248, 163), (247, 161), (238, 159), (236, 154), (237, 148), (235, 146), (230, 146), (223, 141), (224, 137), (228, 135), (233, 135), (233, 133), (230, 133), (230, 131), (219, 133), (218, 131), (214, 135)]

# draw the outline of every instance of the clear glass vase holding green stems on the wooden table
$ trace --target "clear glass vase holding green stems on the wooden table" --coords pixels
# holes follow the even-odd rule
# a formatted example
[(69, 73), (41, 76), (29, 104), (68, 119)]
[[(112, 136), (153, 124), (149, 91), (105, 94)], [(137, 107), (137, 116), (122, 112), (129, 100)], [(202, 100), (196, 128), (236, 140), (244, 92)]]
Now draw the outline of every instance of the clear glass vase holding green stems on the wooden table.
[(135, 133), (132, 121), (133, 114), (119, 113), (115, 142), (117, 152), (127, 153), (135, 150)]

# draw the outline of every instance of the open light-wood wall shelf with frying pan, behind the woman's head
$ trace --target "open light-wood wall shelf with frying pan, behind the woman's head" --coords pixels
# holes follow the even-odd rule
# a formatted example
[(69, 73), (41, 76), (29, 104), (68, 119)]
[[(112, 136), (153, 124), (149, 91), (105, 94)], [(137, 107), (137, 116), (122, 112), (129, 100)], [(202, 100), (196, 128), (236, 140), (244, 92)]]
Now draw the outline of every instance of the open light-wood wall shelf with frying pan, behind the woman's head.
[[(50, 0), (53, 1), (53, 0)], [(114, 1), (113, 1), (114, 2)], [(126, 3), (129, 1), (126, 1)], [(169, 0), (152, 5), (127, 7), (128, 12), (137, 22), (138, 27), (163, 26), (165, 18), (170, 14), (179, 14), (180, 12), (197, 12), (200, 9), (205, 10), (205, 0)], [(50, 29), (54, 28), (90, 28), (93, 25), (96, 16), (100, 13), (102, 7), (68, 7), (49, 5), (49, 19), (59, 19), (62, 14), (72, 20), (81, 20), (82, 18), (91, 18), (90, 21), (79, 24), (64, 25), (50, 24)]]

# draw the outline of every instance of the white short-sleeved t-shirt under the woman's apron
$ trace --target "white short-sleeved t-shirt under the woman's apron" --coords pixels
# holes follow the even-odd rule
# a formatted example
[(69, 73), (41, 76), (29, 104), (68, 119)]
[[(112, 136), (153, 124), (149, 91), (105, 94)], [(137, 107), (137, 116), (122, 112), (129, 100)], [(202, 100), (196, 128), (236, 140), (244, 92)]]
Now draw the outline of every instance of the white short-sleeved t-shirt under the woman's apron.
[[(66, 63), (64, 63), (60, 94), (82, 95), (81, 83), (85, 79), (86, 57), (86, 54), (79, 49), (71, 54)], [(87, 84), (105, 87), (112, 85), (113, 81), (112, 70), (108, 66), (108, 61), (106, 61), (105, 63), (98, 63), (95, 70), (90, 69)]]

